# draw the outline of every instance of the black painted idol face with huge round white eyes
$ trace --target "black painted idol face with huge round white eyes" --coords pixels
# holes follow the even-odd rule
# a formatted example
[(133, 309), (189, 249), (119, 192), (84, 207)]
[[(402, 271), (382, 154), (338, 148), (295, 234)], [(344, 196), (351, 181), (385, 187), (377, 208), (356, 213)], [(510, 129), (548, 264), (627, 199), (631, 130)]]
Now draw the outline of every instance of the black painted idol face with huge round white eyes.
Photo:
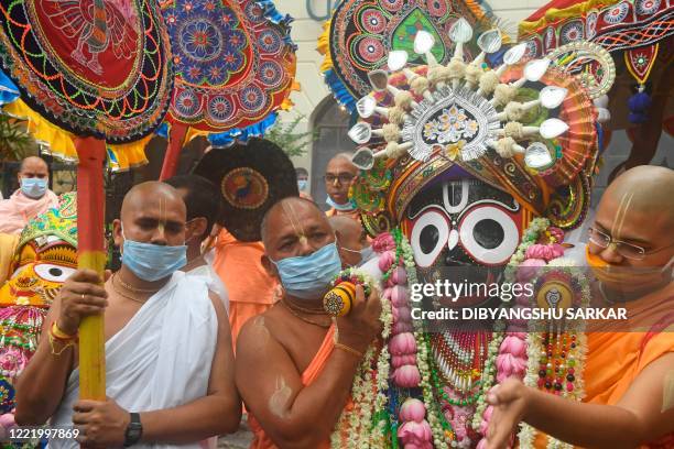
[(461, 277), (476, 277), (469, 282), (498, 280), (520, 243), (523, 219), (523, 209), (512, 196), (476, 178), (442, 180), (424, 188), (405, 213), (420, 281), (444, 281), (450, 275), (447, 269), (458, 266), (487, 267), (456, 271)]

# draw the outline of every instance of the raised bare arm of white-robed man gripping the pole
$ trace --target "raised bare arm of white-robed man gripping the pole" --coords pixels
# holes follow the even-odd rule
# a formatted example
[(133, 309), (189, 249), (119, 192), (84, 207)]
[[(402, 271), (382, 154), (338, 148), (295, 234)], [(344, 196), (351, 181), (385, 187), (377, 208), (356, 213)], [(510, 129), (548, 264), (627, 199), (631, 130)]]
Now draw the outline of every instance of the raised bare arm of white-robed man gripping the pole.
[[(78, 271), (68, 278), (55, 298), (42, 328), (40, 344), (17, 383), (17, 423), (20, 425), (44, 424), (63, 398), (68, 375), (73, 371), (77, 346), (66, 349), (50, 344), (48, 330), (52, 322), (67, 333), (77, 332), (79, 315), (101, 313), (107, 306), (107, 294), (96, 272)], [(83, 300), (81, 294), (86, 297)], [(67, 303), (64, 306), (64, 302)], [(53, 352), (59, 352), (61, 354)]]

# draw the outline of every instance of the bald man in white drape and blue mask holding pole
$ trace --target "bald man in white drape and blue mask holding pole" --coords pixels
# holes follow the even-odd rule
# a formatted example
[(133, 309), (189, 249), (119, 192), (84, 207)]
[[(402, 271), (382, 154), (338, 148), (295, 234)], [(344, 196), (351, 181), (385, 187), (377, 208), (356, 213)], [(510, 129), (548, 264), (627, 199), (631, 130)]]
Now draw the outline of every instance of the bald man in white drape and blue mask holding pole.
[[(197, 449), (233, 431), (241, 406), (233, 385), (229, 325), (202, 277), (186, 276), (185, 204), (163, 183), (124, 197), (113, 222), (121, 270), (105, 285), (90, 270), (68, 278), (45, 319), (35, 355), (17, 386), (19, 425), (75, 425), (79, 437), (50, 448), (162, 445)], [(77, 330), (105, 311), (105, 402), (78, 399)]]

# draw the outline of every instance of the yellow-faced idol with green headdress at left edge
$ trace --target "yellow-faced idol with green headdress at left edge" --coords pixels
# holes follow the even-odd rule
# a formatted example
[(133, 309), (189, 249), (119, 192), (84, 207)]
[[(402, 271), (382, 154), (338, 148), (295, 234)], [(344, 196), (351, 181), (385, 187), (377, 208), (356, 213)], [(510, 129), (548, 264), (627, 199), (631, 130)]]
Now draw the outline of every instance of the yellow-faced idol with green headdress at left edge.
[[(0, 287), (0, 425), (13, 425), (12, 384), (35, 352), (42, 322), (65, 280), (77, 269), (76, 194), (32, 219), (21, 232)], [(0, 429), (1, 430), (1, 429)]]

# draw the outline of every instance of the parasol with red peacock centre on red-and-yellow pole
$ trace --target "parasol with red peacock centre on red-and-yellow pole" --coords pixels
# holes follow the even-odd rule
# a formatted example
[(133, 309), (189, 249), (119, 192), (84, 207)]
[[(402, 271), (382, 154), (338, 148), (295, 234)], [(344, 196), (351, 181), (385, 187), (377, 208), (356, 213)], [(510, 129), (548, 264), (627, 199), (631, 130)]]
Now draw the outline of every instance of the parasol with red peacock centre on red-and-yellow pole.
[[(104, 274), (104, 163), (144, 162), (170, 103), (168, 35), (148, 0), (2, 0), (0, 63), (21, 99), (6, 113), (53, 155), (78, 161), (78, 266)], [(80, 396), (105, 399), (102, 316), (80, 326)]]

